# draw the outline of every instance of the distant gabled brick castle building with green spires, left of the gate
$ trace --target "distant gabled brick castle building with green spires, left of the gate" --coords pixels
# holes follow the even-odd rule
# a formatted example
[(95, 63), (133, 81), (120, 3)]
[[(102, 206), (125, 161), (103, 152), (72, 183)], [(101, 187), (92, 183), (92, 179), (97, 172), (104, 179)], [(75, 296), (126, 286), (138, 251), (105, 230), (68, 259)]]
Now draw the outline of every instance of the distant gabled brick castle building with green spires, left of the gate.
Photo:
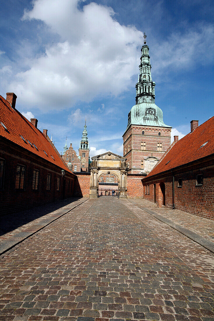
[(72, 144), (70, 144), (70, 147), (67, 148), (67, 138), (66, 138), (66, 144), (64, 147), (62, 158), (66, 162), (70, 170), (73, 170), (74, 172), (89, 171), (89, 165), (91, 161), (89, 157), (90, 149), (89, 149), (89, 143), (88, 143), (88, 132), (86, 128), (87, 126), (86, 126), (86, 119), (85, 119), (83, 135), (79, 145), (79, 156), (76, 155), (76, 152), (72, 147)]

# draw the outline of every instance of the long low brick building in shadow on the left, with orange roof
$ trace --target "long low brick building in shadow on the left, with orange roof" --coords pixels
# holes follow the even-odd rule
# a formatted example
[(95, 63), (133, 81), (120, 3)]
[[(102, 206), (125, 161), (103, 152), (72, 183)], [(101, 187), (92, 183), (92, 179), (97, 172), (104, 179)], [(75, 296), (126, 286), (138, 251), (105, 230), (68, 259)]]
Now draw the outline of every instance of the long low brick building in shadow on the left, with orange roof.
[(16, 98), (0, 96), (1, 215), (72, 196), (76, 178), (47, 129), (42, 133), (37, 119), (29, 122), (15, 108)]

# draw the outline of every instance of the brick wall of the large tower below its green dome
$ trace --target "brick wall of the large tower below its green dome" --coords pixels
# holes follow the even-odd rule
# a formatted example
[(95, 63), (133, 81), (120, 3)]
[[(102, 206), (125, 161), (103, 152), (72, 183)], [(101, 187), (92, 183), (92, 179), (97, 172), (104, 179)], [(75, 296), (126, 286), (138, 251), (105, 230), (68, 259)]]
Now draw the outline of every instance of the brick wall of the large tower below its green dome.
[[(143, 147), (143, 143), (145, 143), (145, 147)], [(158, 151), (160, 143), (162, 144), (161, 151)], [(129, 173), (134, 174), (142, 171), (144, 160), (151, 154), (160, 160), (170, 144), (171, 128), (131, 125), (123, 135), (123, 156), (127, 158)]]

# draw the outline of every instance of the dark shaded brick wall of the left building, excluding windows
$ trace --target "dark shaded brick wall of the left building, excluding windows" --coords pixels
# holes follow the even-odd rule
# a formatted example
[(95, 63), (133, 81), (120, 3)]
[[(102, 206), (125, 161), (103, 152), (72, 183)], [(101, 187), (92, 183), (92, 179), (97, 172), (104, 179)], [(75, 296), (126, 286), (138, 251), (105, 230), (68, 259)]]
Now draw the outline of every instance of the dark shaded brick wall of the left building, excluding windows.
[[(31, 208), (47, 202), (53, 202), (63, 198), (63, 178), (61, 168), (41, 159), (39, 156), (25, 151), (21, 147), (11, 143), (8, 147), (3, 139), (0, 139), (0, 158), (5, 161), (4, 187), (0, 190), (1, 215)], [(25, 166), (24, 189), (15, 188), (17, 165)], [(39, 170), (38, 190), (32, 189), (33, 170)], [(51, 189), (47, 191), (47, 174), (51, 174)], [(57, 177), (60, 178), (60, 190), (57, 191)], [(68, 179), (75, 181), (75, 175), (66, 172), (65, 198), (71, 197), (73, 191), (68, 192)]]

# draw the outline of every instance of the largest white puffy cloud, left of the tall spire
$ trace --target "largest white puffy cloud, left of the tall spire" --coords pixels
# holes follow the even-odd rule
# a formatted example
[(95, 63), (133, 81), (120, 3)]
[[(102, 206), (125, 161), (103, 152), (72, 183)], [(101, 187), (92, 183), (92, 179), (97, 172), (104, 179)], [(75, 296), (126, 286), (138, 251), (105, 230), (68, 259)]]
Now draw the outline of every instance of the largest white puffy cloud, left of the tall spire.
[(120, 25), (110, 7), (90, 3), (79, 10), (79, 2), (35, 0), (23, 16), (44, 22), (61, 38), (11, 84), (23, 102), (43, 111), (88, 102), (100, 93), (118, 95), (136, 72), (142, 32)]

